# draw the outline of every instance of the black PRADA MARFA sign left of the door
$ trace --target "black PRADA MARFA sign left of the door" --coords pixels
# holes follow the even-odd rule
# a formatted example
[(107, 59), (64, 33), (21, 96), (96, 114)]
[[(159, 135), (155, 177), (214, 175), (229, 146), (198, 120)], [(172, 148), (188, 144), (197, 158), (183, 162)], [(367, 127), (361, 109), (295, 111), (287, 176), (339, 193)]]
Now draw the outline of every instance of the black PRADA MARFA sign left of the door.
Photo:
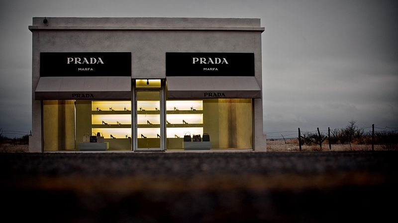
[(40, 53), (40, 76), (131, 76), (131, 53)]

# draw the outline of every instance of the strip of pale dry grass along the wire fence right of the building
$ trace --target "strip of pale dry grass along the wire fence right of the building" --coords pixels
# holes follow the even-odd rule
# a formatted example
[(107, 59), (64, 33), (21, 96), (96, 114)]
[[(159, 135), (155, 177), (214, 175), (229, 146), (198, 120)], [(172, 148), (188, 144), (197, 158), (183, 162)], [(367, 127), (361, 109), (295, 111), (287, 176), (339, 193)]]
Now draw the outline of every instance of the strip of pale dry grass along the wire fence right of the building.
[[(329, 144), (322, 144), (322, 151), (370, 151), (372, 150), (372, 145), (357, 145), (357, 144), (338, 144), (331, 145), (331, 149), (329, 149)], [(386, 150), (383, 149), (380, 145), (375, 145), (375, 150)], [(298, 139), (286, 140), (286, 144), (284, 140), (267, 140), (267, 151), (299, 151), (298, 147)], [(301, 146), (301, 151), (320, 151), (318, 145), (303, 145)]]

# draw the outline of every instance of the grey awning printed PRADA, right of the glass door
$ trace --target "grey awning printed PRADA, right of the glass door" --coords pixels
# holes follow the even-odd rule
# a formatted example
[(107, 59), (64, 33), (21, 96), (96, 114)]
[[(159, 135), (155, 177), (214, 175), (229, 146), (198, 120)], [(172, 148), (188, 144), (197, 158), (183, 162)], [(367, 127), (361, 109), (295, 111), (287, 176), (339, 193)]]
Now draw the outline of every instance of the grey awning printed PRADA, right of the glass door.
[(168, 98), (261, 98), (254, 76), (168, 76)]

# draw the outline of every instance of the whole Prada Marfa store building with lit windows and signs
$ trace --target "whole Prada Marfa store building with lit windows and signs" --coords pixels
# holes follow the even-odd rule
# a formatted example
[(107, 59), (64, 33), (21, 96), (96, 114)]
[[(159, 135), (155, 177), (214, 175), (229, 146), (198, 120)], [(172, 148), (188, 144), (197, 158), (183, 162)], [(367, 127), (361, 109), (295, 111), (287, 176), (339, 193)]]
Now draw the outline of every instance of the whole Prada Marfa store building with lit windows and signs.
[(266, 151), (254, 18), (34, 17), (30, 152)]

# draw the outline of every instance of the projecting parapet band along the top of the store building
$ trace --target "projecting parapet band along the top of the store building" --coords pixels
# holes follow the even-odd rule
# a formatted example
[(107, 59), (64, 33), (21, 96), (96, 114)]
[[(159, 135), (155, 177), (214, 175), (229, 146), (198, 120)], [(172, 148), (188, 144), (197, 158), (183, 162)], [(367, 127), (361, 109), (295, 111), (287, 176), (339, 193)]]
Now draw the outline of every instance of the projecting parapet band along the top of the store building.
[[(46, 23), (44, 23), (46, 19)], [(242, 30), (261, 31), (259, 18), (33, 17), (29, 30)]]

